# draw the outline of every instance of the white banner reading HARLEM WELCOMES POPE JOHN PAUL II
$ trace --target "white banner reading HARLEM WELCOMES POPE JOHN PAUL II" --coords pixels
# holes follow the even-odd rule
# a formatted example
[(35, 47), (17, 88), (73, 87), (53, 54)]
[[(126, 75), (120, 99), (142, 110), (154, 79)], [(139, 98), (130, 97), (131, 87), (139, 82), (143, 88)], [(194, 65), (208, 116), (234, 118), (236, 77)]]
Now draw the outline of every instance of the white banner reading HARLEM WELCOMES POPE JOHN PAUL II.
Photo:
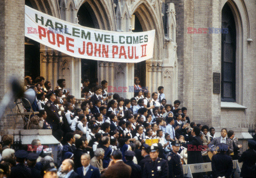
[(88, 28), (25, 5), (25, 36), (75, 58), (134, 63), (153, 58), (155, 30), (123, 33)]

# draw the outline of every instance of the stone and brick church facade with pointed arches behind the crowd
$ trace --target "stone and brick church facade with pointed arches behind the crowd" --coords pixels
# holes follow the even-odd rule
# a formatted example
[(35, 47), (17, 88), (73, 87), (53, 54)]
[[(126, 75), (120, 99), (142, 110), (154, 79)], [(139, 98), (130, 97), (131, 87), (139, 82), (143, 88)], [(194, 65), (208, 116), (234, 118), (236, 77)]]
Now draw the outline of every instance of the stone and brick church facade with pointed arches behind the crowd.
[[(25, 4), (86, 27), (134, 33), (155, 29), (153, 59), (137, 64), (77, 59), (33, 42), (24, 37)], [(44, 76), (52, 87), (65, 78), (77, 98), (82, 77), (129, 87), (137, 76), (150, 92), (164, 86), (167, 102), (179, 99), (196, 123), (214, 127), (255, 123), (255, 9), (256, 1), (249, 0), (3, 0), (0, 95), (8, 90), (10, 75), (21, 80), (24, 75)], [(217, 93), (213, 73), (221, 74)], [(4, 118), (1, 129), (10, 128), (10, 123)]]

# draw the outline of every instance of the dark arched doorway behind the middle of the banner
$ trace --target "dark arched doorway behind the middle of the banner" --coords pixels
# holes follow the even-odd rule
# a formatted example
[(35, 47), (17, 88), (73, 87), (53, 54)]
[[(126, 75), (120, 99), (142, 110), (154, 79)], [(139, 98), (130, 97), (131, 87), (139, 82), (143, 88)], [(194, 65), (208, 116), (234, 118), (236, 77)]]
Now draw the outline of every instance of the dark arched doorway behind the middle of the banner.
[[(95, 14), (89, 5), (85, 2), (77, 12), (78, 23), (84, 27), (98, 28), (99, 24)], [(97, 61), (90, 59), (81, 59), (82, 78), (87, 78), (90, 81), (97, 78)]]

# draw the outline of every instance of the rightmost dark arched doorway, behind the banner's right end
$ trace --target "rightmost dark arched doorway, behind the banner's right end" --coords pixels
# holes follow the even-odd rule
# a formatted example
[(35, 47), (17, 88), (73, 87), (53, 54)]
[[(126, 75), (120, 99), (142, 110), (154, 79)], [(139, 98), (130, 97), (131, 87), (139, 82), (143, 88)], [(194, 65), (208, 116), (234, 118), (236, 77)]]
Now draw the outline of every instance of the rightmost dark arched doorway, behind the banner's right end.
[[(143, 31), (141, 23), (135, 15), (135, 29), (132, 32), (141, 32)], [(138, 62), (134, 64), (134, 77), (139, 77), (140, 85), (142, 87), (146, 86), (146, 61)]]

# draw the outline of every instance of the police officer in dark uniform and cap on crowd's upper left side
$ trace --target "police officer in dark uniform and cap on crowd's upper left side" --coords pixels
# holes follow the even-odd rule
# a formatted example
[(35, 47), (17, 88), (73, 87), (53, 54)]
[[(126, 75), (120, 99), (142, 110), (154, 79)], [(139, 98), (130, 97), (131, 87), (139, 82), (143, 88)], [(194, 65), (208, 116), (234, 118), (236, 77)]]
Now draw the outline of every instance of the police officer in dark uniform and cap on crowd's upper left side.
[(56, 131), (60, 128), (61, 116), (58, 114), (58, 108), (53, 103), (56, 100), (56, 96), (53, 91), (46, 94), (48, 101), (45, 103), (45, 111), (47, 114), (46, 121), (52, 125), (52, 130)]

